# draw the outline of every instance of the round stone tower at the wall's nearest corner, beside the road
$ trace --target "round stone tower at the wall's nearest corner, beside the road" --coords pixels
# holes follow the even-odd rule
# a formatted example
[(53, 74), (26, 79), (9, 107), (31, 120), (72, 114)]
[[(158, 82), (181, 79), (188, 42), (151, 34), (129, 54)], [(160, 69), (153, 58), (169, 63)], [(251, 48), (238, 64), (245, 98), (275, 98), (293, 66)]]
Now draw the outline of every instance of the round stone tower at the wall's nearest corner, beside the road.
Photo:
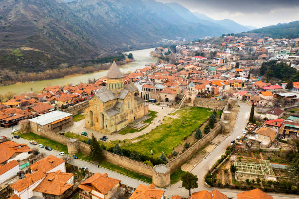
[(170, 184), (170, 170), (167, 166), (154, 166), (152, 174), (152, 183), (157, 187), (167, 187)]

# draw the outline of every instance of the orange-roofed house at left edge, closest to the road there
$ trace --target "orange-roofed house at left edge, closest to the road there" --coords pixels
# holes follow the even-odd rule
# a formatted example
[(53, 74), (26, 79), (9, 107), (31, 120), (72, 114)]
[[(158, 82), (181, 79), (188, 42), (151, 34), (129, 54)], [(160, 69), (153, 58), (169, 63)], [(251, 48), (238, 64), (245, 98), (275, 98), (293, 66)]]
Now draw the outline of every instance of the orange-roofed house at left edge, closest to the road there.
[(18, 144), (13, 141), (6, 141), (0, 144), (0, 164), (4, 165), (13, 160), (27, 159), (32, 149), (27, 144)]

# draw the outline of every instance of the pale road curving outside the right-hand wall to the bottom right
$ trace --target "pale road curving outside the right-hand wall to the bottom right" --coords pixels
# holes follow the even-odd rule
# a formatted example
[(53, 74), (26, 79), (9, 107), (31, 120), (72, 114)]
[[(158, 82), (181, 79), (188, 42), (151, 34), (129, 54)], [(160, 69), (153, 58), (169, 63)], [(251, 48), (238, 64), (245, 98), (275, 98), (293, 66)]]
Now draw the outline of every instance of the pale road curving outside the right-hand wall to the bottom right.
[[(198, 177), (198, 188), (192, 189), (192, 192), (197, 192), (197, 191), (202, 191), (202, 190), (208, 190), (208, 191), (213, 191), (216, 188), (214, 187), (207, 187), (204, 185), (204, 176), (211, 168), (214, 163), (221, 158), (221, 155), (224, 154), (226, 151), (227, 146), (230, 145), (231, 140), (236, 139), (237, 136), (242, 136), (242, 130), (245, 129), (247, 120), (249, 119), (250, 115), (250, 110), (251, 106), (245, 103), (239, 103), (240, 105), (240, 110), (239, 114), (237, 117), (237, 120), (235, 122), (234, 129), (232, 133), (224, 139), (222, 142), (220, 142), (213, 151), (211, 151), (202, 161), (200, 161), (193, 169), (192, 173), (197, 175)], [(218, 191), (222, 192), (223, 194), (229, 196), (229, 197), (234, 197), (236, 199), (237, 193), (240, 193), (242, 191), (238, 190), (231, 190), (231, 189), (218, 189)], [(169, 188), (166, 189), (166, 197), (171, 198), (173, 195), (180, 195), (183, 197), (188, 197), (188, 190), (185, 188), (182, 188), (182, 182), (178, 182), (176, 184), (173, 184)], [(296, 195), (286, 195), (286, 194), (273, 194), (270, 193), (270, 195), (274, 199), (298, 199), (299, 197)]]

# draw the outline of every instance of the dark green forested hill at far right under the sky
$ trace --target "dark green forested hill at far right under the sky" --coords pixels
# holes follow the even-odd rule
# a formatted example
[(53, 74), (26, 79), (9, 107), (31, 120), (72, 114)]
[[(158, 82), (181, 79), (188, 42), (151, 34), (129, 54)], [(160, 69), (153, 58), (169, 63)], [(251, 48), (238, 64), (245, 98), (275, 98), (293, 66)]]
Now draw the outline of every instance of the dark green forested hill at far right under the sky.
[(277, 25), (271, 25), (248, 32), (241, 33), (242, 35), (249, 36), (268, 36), (271, 38), (298, 38), (299, 37), (299, 21), (293, 21), (290, 23), (278, 23)]

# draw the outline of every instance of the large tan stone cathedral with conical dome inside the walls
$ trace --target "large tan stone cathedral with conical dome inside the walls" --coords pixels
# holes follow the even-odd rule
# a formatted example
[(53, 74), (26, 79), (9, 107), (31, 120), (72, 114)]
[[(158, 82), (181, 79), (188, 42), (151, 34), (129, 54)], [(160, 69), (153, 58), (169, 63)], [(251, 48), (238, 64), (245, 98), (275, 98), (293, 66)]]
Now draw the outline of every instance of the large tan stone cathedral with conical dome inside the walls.
[(112, 134), (129, 123), (148, 114), (148, 104), (138, 95), (134, 84), (123, 83), (123, 74), (115, 61), (107, 73), (107, 86), (103, 86), (89, 101), (85, 110), (85, 126)]

